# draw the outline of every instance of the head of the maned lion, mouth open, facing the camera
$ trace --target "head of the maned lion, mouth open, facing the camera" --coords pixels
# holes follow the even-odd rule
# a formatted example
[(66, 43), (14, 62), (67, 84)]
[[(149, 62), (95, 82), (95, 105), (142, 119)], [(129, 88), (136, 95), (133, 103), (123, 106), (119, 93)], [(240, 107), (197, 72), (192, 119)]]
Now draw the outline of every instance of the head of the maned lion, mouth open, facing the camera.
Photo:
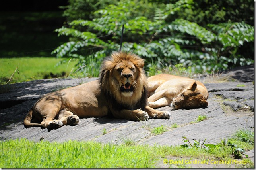
[(148, 86), (143, 67), (144, 59), (138, 55), (114, 52), (101, 64), (101, 88), (122, 103), (134, 102)]

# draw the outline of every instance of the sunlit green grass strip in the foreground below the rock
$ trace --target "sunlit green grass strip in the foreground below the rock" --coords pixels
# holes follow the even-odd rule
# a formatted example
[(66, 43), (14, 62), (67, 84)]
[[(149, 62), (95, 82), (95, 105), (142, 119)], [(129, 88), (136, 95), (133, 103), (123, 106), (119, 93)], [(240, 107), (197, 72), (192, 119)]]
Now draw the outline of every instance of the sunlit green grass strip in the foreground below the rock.
[[(254, 145), (232, 139), (238, 147)], [(209, 150), (181, 146), (114, 145), (97, 142), (0, 141), (1, 168), (159, 168), (164, 159), (233, 159), (229, 147)], [(182, 158), (181, 158), (182, 157)], [(252, 162), (246, 164), (254, 167)]]

